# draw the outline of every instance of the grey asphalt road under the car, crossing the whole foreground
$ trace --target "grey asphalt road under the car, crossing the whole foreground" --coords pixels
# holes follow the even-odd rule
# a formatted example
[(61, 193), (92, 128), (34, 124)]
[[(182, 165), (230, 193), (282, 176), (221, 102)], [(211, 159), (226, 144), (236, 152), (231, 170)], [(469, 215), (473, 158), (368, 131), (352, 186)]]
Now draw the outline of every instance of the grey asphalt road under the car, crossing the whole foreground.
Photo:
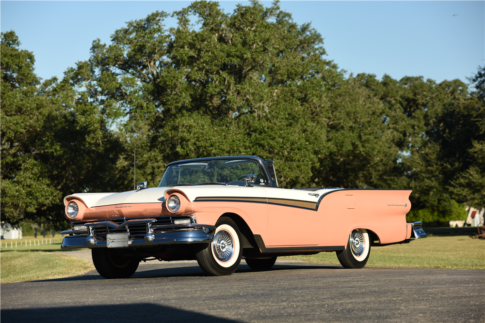
[(485, 271), (277, 261), (205, 277), (195, 261), (142, 263), (129, 279), (96, 271), (0, 286), (1, 323), (485, 322)]

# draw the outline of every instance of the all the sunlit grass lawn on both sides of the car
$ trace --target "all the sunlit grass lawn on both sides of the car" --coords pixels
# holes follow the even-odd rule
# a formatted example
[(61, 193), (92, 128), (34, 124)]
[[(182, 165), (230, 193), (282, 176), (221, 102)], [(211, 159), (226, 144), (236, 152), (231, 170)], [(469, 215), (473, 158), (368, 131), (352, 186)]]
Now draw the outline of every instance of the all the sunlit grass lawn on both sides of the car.
[[(69, 277), (94, 269), (89, 261), (69, 256), (67, 252), (65, 255), (49, 252), (61, 251), (60, 240), (51, 245), (36, 243), (35, 249), (33, 244), (32, 247), (22, 244), (23, 249), (19, 243), (17, 249), (7, 244), (7, 248), (0, 249), (1, 283)], [(335, 252), (280, 259), (339, 265)], [(485, 240), (471, 239), (468, 235), (430, 235), (409, 244), (372, 247), (366, 266), (485, 270)]]

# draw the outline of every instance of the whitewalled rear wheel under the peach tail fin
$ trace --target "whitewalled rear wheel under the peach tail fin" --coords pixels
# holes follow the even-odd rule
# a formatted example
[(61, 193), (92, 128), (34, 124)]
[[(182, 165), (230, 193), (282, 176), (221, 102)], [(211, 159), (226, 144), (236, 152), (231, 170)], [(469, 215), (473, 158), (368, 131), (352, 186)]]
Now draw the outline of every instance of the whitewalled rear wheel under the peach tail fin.
[(337, 258), (344, 268), (362, 268), (371, 253), (369, 233), (365, 229), (355, 229), (350, 233), (347, 248), (337, 251)]

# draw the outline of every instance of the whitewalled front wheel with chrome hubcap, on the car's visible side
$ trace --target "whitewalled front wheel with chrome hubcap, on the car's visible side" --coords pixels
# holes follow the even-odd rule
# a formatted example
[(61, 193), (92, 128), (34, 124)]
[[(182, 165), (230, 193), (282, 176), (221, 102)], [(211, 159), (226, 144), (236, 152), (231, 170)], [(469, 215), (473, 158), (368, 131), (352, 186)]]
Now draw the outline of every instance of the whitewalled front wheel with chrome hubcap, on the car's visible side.
[(241, 233), (229, 217), (221, 217), (216, 227), (214, 240), (197, 246), (195, 258), (200, 268), (210, 276), (231, 275), (241, 262)]

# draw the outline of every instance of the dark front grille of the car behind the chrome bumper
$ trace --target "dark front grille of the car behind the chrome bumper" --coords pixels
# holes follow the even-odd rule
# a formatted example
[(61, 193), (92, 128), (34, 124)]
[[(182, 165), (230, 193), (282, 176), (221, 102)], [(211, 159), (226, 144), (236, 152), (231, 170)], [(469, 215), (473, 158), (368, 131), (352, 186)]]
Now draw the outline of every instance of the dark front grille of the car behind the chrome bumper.
[[(146, 219), (147, 217), (143, 218), (129, 218), (129, 220), (135, 220), (135, 219)], [(178, 225), (176, 228), (173, 227), (162, 227), (162, 226), (167, 226), (167, 225), (175, 225), (174, 220), (189, 220), (190, 224), (195, 224), (195, 220), (192, 216), (150, 216), (149, 218), (155, 219), (155, 222), (151, 223), (151, 229), (155, 233), (159, 232), (166, 232), (166, 231), (188, 231), (188, 230), (196, 230), (197, 228), (194, 226), (183, 226), (183, 225)], [(120, 218), (115, 218), (115, 219), (100, 219), (96, 221), (75, 221), (72, 222), (71, 225), (74, 228), (74, 226), (82, 226), (85, 225), (86, 223), (90, 222), (106, 222), (106, 221), (111, 221), (116, 223), (117, 225), (120, 225), (124, 222), (126, 222), (128, 219), (120, 219)], [(87, 235), (88, 231), (86, 230), (81, 230), (76, 233), (71, 233), (72, 235)], [(135, 224), (128, 224), (125, 227), (121, 229), (113, 229), (112, 227), (108, 226), (95, 226), (93, 227), (93, 233), (98, 237), (98, 238), (106, 238), (107, 233), (127, 233), (129, 234), (130, 240), (132, 239), (143, 239), (146, 234), (146, 224), (145, 223), (135, 223)]]

